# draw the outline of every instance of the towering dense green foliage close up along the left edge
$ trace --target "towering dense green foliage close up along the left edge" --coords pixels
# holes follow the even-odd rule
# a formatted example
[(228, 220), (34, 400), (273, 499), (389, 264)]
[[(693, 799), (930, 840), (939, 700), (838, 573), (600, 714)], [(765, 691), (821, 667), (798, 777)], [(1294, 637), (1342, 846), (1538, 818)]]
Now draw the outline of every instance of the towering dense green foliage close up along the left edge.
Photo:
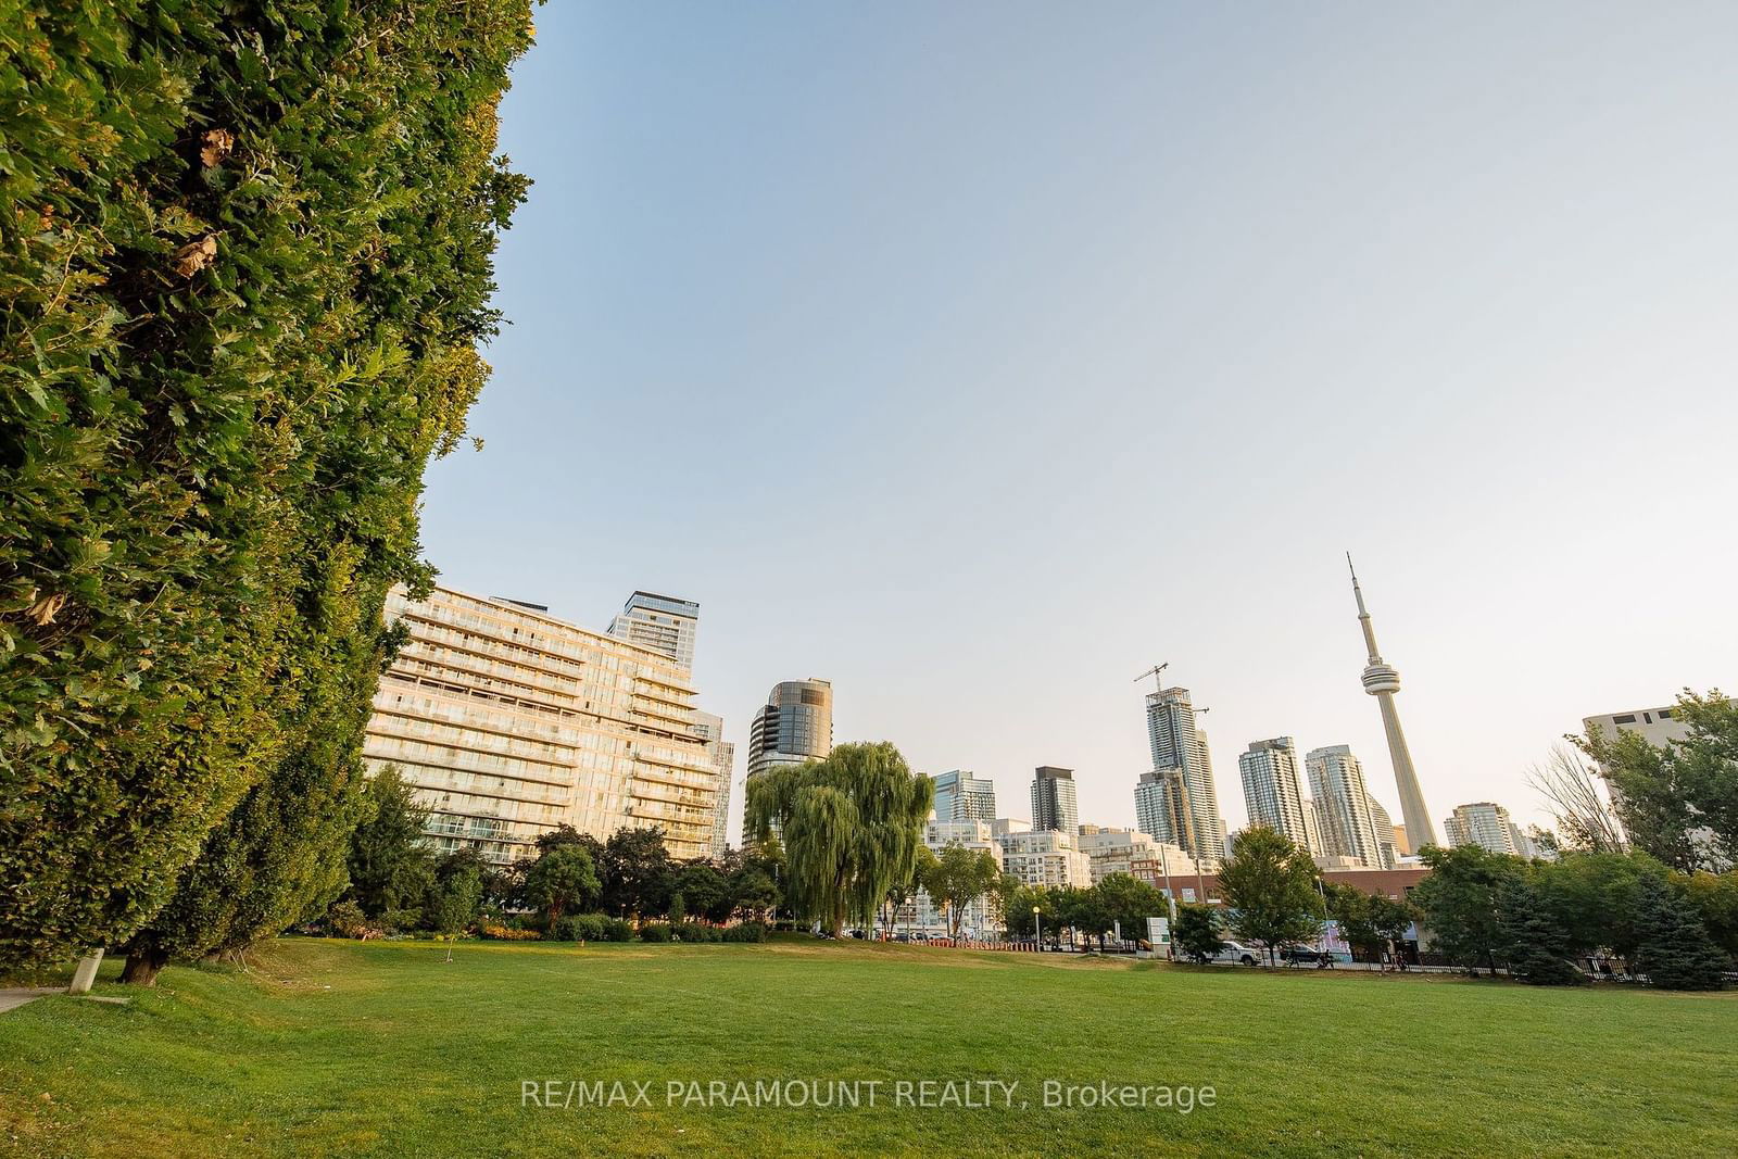
[(528, 0), (9, 5), (0, 970), (344, 888), (417, 499), (488, 375)]

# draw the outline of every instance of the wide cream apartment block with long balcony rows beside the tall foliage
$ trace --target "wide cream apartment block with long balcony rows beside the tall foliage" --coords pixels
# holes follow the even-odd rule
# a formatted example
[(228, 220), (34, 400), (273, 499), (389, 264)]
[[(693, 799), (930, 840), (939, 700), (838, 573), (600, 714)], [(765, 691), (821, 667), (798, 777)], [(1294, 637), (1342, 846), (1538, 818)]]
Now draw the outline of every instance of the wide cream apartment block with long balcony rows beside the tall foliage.
[(674, 660), (450, 587), (395, 589), (386, 615), (408, 639), (381, 676), (363, 759), (415, 787), (434, 848), (513, 862), (565, 824), (598, 839), (657, 827), (678, 858), (711, 850), (718, 773)]

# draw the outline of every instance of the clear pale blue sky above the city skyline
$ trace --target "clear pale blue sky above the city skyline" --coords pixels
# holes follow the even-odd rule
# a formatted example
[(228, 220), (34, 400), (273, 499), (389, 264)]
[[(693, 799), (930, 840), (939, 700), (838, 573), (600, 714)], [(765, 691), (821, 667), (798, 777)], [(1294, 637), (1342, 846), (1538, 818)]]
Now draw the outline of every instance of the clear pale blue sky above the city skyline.
[[(1430, 811), (1733, 681), (1738, 7), (575, 3), (502, 108), (443, 580), (699, 599), (700, 705), (1133, 822), (1135, 674)], [(739, 765), (740, 777), (740, 765)], [(740, 789), (733, 815), (740, 813)], [(1441, 822), (1439, 822), (1441, 824)], [(732, 820), (732, 839), (737, 834)]]

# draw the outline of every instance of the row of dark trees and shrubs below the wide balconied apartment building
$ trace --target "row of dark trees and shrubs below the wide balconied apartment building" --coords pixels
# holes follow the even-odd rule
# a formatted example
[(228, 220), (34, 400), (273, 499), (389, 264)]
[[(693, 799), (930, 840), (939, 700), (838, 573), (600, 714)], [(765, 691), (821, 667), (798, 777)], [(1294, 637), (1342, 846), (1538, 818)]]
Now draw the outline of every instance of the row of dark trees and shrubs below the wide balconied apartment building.
[[(511, 865), (474, 850), (436, 855), (426, 813), (393, 770), (363, 794), (365, 820), (349, 843), (349, 888), (323, 926), (342, 937), (478, 933), (507, 940), (760, 940), (779, 905), (775, 858), (735, 850), (676, 862), (657, 829), (619, 829), (607, 841), (561, 825)], [(732, 935), (726, 923), (756, 926)]]

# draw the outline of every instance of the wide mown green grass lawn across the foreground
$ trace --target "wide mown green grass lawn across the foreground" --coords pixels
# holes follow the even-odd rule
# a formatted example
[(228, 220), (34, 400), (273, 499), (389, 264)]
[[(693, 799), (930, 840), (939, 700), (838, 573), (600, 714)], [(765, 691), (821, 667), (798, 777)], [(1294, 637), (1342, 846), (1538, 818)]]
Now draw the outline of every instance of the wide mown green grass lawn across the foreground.
[[(106, 964), (97, 992), (130, 1004), (54, 996), (0, 1015), (0, 1149), (1738, 1154), (1738, 994), (817, 942), (445, 954), (283, 940), (247, 973), (165, 970), (155, 992)], [(542, 1079), (650, 1083), (652, 1107), (521, 1105)], [(883, 1088), (872, 1109), (666, 1105), (666, 1083), (739, 1079)], [(987, 1109), (900, 1107), (902, 1079), (1018, 1088), (1012, 1107), (1005, 1088)], [(1045, 1079), (1217, 1098), (1045, 1109)]]

